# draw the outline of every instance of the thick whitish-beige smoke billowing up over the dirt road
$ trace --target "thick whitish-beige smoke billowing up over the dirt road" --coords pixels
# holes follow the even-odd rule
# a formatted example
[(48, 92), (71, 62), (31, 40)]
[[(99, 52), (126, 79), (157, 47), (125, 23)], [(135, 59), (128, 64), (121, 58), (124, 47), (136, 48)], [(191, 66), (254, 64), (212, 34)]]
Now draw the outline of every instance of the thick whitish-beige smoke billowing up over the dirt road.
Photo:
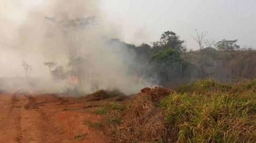
[[(77, 87), (83, 92), (118, 88), (129, 94), (148, 86), (136, 79), (131, 69), (131, 65), (135, 63), (131, 52), (102, 37), (106, 35), (110, 38), (122, 38), (122, 35), (119, 34), (121, 31), (118, 27), (114, 28), (115, 24), (111, 20), (105, 19), (104, 12), (98, 8), (100, 1), (28, 0), (25, 3), (21, 0), (2, 0), (1, 3), (0, 77), (24, 77), (25, 71), (21, 65), (25, 60), (32, 66), (29, 77), (38, 79), (36, 83), (33, 79), (33, 83), (28, 86), (32, 85), (32, 88), (40, 92), (65, 92), (75, 88), (68, 82), (67, 76), (76, 64), (71, 67), (66, 65), (82, 57), (82, 64), (76, 67), (82, 70), (75, 71), (80, 78), (83, 77)], [(70, 20), (92, 16), (97, 25), (78, 27), (72, 31), (63, 30), (61, 25)], [(55, 19), (52, 20), (52, 17)], [(63, 34), (64, 31), (68, 32)], [(63, 67), (67, 73), (64, 79), (58, 82), (49, 79), (49, 70), (43, 64), (49, 61), (57, 62), (57, 66)], [(7, 81), (2, 80), (0, 84), (5, 82)], [(8, 87), (11, 85), (12, 82)], [(24, 83), (18, 85), (24, 86)]]

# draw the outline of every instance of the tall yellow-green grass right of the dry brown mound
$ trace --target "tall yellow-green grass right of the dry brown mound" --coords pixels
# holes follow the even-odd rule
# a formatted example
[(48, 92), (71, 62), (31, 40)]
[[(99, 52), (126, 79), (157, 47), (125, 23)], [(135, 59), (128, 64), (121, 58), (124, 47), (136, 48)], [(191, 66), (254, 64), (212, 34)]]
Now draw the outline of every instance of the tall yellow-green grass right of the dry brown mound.
[[(212, 87), (217, 89), (212, 90)], [(160, 107), (165, 111), (166, 123), (177, 129), (177, 142), (255, 141), (256, 96), (216, 92), (231, 88), (233, 87), (215, 81), (197, 81), (195, 84), (180, 87), (177, 93), (163, 99)]]

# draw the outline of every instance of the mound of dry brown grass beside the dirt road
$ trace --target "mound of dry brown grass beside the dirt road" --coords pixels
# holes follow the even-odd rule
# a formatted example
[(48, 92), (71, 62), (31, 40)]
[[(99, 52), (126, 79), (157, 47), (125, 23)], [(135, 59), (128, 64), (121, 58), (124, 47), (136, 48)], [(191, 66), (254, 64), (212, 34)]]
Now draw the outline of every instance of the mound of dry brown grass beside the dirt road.
[(105, 115), (108, 132), (119, 140), (136, 143), (146, 139), (145, 141), (150, 142), (169, 136), (169, 125), (164, 122), (164, 112), (156, 105), (171, 91), (160, 87), (144, 88), (141, 91), (124, 112), (112, 110)]

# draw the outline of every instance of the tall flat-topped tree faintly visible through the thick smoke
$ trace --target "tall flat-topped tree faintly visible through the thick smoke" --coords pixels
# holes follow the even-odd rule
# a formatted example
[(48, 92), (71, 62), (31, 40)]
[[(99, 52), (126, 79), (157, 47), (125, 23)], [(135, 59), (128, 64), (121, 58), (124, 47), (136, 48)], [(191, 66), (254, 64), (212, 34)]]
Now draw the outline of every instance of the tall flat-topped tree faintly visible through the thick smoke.
[[(72, 71), (70, 73), (72, 73), (73, 76), (78, 76), (80, 83), (83, 78), (83, 75), (81, 74), (86, 70), (84, 66), (86, 58), (81, 52), (82, 48), (86, 47), (83, 45), (85, 37), (84, 33), (86, 32), (86, 28), (97, 24), (95, 17), (78, 18), (75, 20), (57, 20), (55, 17), (44, 18), (49, 23), (50, 28), (57, 29), (55, 34), (61, 36), (66, 43), (66, 48), (69, 54), (68, 66)], [(50, 36), (54, 36), (54, 34), (50, 34)]]

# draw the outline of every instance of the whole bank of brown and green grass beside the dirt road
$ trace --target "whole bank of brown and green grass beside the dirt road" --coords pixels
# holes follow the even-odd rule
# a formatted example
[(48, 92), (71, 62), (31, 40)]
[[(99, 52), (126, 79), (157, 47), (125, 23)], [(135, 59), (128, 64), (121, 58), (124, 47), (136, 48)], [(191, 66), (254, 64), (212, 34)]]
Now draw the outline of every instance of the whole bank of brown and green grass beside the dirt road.
[(252, 143), (256, 80), (200, 80), (175, 91), (144, 88), (129, 106), (111, 106), (104, 116), (107, 132), (129, 143)]

